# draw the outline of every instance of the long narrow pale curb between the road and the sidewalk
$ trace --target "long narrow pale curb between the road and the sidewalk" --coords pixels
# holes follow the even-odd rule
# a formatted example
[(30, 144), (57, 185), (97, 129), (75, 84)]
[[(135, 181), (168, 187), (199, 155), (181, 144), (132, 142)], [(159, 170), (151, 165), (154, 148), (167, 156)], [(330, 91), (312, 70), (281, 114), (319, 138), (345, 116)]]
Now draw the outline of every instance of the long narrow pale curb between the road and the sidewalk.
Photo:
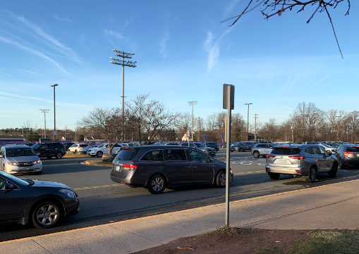
[[(264, 198), (271, 198), (271, 197), (274, 197), (274, 196), (282, 196), (282, 195), (291, 194), (291, 193), (297, 193), (297, 192), (301, 192), (301, 191), (310, 191), (312, 189), (319, 189), (319, 188), (324, 188), (324, 187), (327, 187), (327, 186), (346, 184), (346, 183), (358, 182), (358, 181), (359, 181), (359, 179), (355, 179), (355, 180), (351, 180), (351, 181), (337, 182), (337, 183), (334, 183), (334, 184), (315, 186), (315, 187), (306, 188), (306, 189), (299, 189), (299, 190), (295, 190), (295, 191), (285, 191), (285, 192), (270, 194), (270, 195), (266, 195), (266, 196), (259, 196), (259, 197), (256, 197), (256, 198), (246, 198), (246, 199), (241, 199), (239, 201), (231, 201), (231, 203), (242, 203), (242, 202), (246, 202), (246, 201), (255, 201), (255, 200), (264, 199)], [(186, 209), (186, 210), (179, 210), (179, 211), (175, 211), (175, 212), (166, 212), (166, 213), (162, 213), (162, 214), (159, 214), (159, 215), (150, 215), (150, 216), (147, 216), (147, 217), (139, 217), (139, 218), (130, 219), (130, 220), (123, 220), (121, 222), (112, 222), (112, 223), (107, 223), (107, 224), (102, 224), (102, 225), (97, 225), (97, 226), (83, 227), (81, 229), (71, 229), (71, 230), (68, 230), (68, 231), (61, 231), (61, 232), (56, 232), (56, 233), (52, 233), (52, 234), (44, 234), (42, 236), (30, 236), (30, 237), (26, 237), (26, 238), (23, 238), (23, 239), (3, 241), (3, 242), (0, 243), (0, 246), (2, 244), (6, 244), (6, 243), (15, 243), (15, 242), (18, 242), (18, 241), (41, 239), (41, 238), (44, 238), (44, 237), (47, 237), (47, 236), (56, 236), (56, 235), (59, 235), (59, 234), (68, 234), (68, 233), (71, 233), (71, 232), (85, 231), (87, 229), (95, 229), (95, 228), (98, 228), (98, 227), (108, 227), (108, 226), (111, 226), (111, 225), (123, 224), (123, 223), (126, 223), (126, 222), (135, 222), (135, 221), (138, 221), (138, 220), (147, 220), (147, 219), (152, 218), (152, 217), (159, 217), (159, 216), (176, 214), (176, 213), (180, 213), (180, 212), (188, 212), (188, 211), (193, 211), (193, 210), (208, 209), (208, 208), (213, 208), (213, 207), (217, 207), (217, 206), (220, 206), (220, 205), (225, 205), (225, 203), (219, 203), (219, 204), (216, 204), (216, 205), (207, 205), (207, 206), (202, 206), (200, 208), (191, 208), (191, 209)]]

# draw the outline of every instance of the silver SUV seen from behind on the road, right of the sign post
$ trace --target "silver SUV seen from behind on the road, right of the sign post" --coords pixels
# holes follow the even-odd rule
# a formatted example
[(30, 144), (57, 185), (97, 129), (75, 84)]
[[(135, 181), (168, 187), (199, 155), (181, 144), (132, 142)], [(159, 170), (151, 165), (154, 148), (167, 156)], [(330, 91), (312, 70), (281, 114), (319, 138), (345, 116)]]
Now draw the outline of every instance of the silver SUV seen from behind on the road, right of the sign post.
[(327, 173), (336, 177), (338, 161), (331, 152), (317, 144), (275, 146), (267, 155), (265, 171), (272, 179), (281, 174), (305, 177), (307, 182), (315, 182), (317, 174)]

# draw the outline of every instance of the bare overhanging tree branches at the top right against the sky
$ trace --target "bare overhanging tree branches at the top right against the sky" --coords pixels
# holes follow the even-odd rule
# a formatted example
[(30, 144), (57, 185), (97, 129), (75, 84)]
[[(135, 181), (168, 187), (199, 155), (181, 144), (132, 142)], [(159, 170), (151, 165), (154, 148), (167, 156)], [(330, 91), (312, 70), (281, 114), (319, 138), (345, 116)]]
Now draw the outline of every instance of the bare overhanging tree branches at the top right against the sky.
[[(346, 1), (348, 3), (348, 10), (346, 11), (345, 15), (349, 15), (349, 11), (351, 9), (350, 0), (248, 0), (248, 5), (245, 6), (241, 14), (231, 18), (227, 18), (226, 20), (223, 20), (221, 22), (235, 19), (232, 23), (232, 25), (234, 25), (236, 24), (238, 19), (241, 18), (242, 15), (244, 15), (245, 13), (249, 13), (257, 7), (260, 7), (260, 12), (264, 15), (264, 18), (268, 20), (274, 15), (283, 14), (286, 10), (296, 10), (297, 13), (300, 13), (301, 11), (305, 11), (305, 8), (307, 6), (315, 6), (315, 11), (312, 12), (312, 15), (310, 15), (310, 18), (308, 19), (307, 23), (310, 23), (310, 20), (312, 20), (316, 13), (326, 13), (329, 18), (334, 37), (336, 39), (336, 44), (338, 45), (338, 49), (341, 53), (341, 48), (339, 46), (338, 38), (336, 37), (333, 21), (331, 20), (331, 15), (329, 14), (329, 8), (335, 9), (343, 1)], [(341, 58), (343, 58), (342, 53)]]

